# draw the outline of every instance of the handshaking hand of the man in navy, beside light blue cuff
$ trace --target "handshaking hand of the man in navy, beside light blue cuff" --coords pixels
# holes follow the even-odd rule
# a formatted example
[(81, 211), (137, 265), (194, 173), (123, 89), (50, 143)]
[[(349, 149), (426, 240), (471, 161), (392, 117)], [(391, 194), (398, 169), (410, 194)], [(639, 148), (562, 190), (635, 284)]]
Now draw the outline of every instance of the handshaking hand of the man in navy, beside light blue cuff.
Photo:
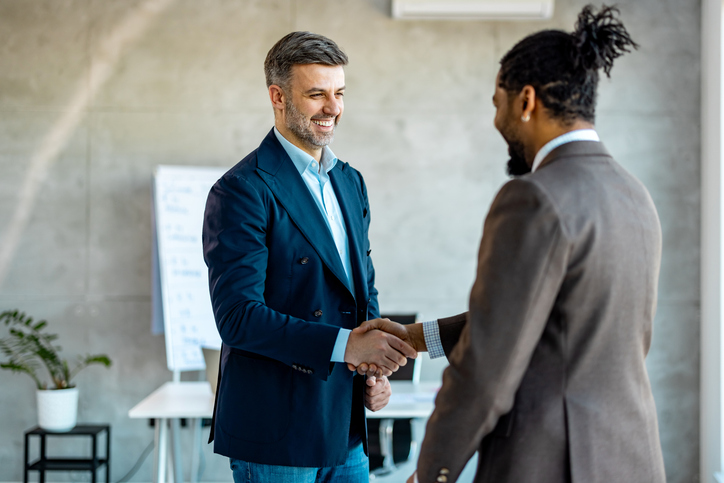
[(375, 364), (380, 375), (389, 376), (417, 352), (398, 337), (381, 330), (353, 330), (347, 340), (344, 361), (355, 369), (363, 362)]

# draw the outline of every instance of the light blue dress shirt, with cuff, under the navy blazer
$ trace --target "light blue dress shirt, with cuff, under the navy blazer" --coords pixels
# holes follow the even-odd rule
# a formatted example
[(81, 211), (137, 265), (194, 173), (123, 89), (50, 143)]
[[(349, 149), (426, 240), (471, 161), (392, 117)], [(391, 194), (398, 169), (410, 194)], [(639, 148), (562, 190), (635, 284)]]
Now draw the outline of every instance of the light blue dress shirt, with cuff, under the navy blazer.
[[(349, 253), (347, 229), (344, 226), (344, 218), (339, 208), (337, 195), (334, 193), (334, 188), (329, 179), (329, 172), (337, 164), (337, 157), (332, 150), (329, 149), (329, 146), (325, 146), (322, 149), (321, 162), (317, 163), (317, 160), (311, 155), (302, 151), (282, 136), (276, 127), (274, 128), (274, 134), (291, 158), (297, 171), (299, 171), (299, 174), (304, 180), (304, 184), (309, 188), (309, 193), (317, 204), (317, 208), (319, 208), (322, 217), (327, 222), (327, 227), (337, 247), (337, 253), (339, 253), (339, 258), (342, 260), (344, 272), (347, 274), (349, 286), (352, 289), (352, 293), (354, 293), (354, 279), (352, 277), (352, 261)], [(321, 169), (320, 164), (322, 165)], [(344, 362), (344, 353), (347, 349), (347, 340), (349, 339), (350, 332), (349, 329), (339, 329), (337, 341), (332, 351), (331, 362)]]

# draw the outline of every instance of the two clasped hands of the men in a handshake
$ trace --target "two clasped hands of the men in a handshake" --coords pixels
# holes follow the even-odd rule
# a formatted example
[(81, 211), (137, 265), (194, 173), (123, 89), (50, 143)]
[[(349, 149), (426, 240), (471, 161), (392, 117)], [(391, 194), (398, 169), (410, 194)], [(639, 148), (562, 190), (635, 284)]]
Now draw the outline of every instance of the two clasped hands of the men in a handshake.
[(350, 371), (377, 378), (389, 376), (407, 364), (408, 357), (414, 359), (425, 350), (422, 324), (373, 319), (350, 333), (344, 361)]

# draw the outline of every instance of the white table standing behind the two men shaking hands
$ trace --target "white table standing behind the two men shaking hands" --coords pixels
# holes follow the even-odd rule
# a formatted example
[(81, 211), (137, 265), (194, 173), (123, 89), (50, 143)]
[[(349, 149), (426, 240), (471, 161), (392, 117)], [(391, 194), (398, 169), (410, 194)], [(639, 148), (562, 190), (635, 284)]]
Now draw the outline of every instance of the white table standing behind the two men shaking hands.
[[(422, 434), (421, 423), (429, 417), (434, 408), (433, 400), (439, 383), (390, 381), (392, 397), (389, 404), (376, 412), (367, 411), (368, 418), (413, 418), (412, 431), (415, 449)], [(181, 450), (179, 445), (179, 419), (193, 420), (194, 448), (201, 447), (201, 419), (211, 418), (214, 412), (214, 395), (208, 382), (167, 382), (136, 404), (128, 417), (154, 419), (156, 431), (154, 482), (163, 483), (183, 480)], [(172, 451), (168, 451), (168, 426), (171, 426)], [(172, 458), (173, 456), (173, 458)], [(193, 451), (191, 458), (191, 481), (198, 481), (199, 452)], [(167, 469), (169, 470), (167, 472)]]

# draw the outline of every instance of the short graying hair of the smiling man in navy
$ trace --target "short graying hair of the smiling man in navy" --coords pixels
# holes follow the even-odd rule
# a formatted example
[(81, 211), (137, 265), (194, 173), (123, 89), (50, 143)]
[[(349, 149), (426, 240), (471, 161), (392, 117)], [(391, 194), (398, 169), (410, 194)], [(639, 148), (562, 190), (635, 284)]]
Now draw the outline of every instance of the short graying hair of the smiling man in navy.
[(274, 44), (266, 55), (266, 86), (274, 84), (287, 89), (294, 64), (347, 65), (347, 54), (327, 37), (311, 32), (292, 32)]

